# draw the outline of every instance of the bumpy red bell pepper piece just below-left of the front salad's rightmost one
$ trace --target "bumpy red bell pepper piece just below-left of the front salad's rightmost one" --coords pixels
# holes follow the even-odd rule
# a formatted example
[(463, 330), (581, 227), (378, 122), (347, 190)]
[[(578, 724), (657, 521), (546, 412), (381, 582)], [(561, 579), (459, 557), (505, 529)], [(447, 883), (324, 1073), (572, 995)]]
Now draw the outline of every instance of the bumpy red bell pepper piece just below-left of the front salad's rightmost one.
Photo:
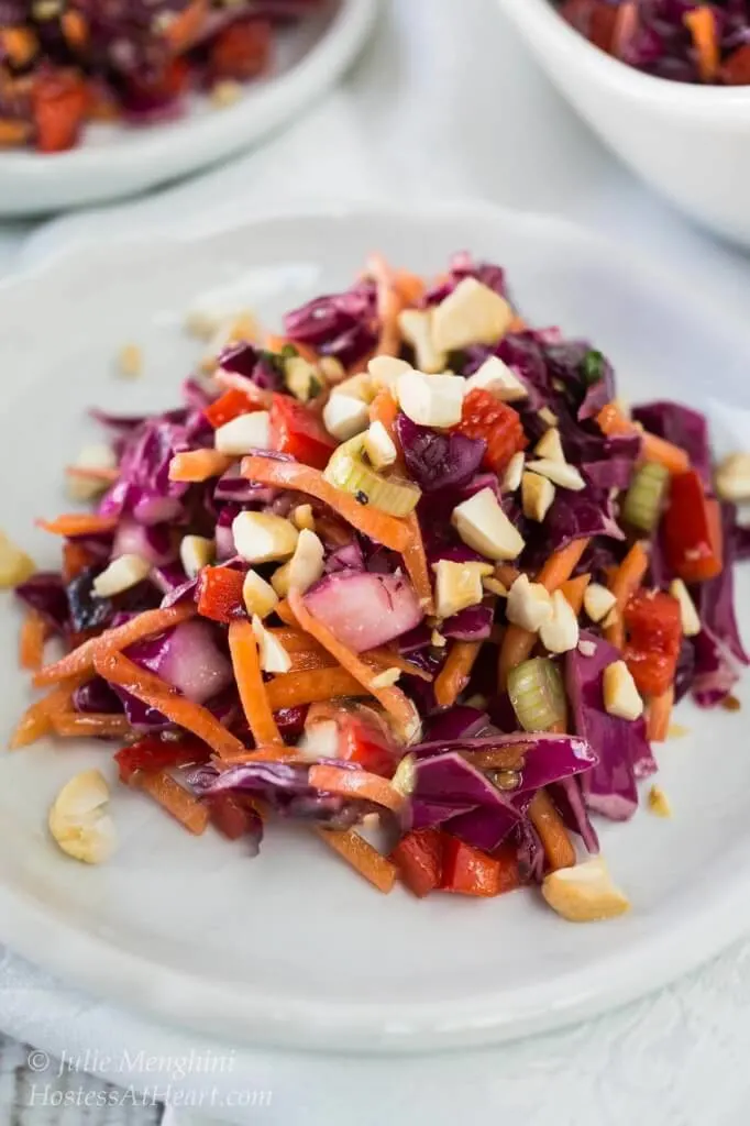
[(623, 656), (636, 688), (645, 696), (661, 696), (675, 679), (682, 643), (679, 602), (663, 591), (639, 591), (623, 620), (628, 635)]

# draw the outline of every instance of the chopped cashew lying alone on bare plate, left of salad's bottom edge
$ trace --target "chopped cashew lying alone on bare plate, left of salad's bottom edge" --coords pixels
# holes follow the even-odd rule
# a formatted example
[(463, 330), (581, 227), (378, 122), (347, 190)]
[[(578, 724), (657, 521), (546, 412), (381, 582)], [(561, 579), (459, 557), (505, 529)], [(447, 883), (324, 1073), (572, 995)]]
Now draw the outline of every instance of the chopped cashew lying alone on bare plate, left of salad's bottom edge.
[(83, 864), (104, 864), (117, 848), (115, 823), (107, 812), (109, 787), (98, 770), (71, 778), (50, 810), (50, 832), (63, 852)]

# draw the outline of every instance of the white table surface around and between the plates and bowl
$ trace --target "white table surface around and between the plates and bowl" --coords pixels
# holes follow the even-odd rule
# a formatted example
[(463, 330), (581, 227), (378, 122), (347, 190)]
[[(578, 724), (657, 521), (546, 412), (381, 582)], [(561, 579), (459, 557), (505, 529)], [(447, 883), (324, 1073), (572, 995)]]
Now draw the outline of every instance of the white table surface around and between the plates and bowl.
[[(258, 209), (472, 195), (605, 230), (693, 278), (706, 302), (747, 315), (747, 256), (690, 227), (602, 149), (539, 74), (492, 0), (384, 0), (383, 8), (375, 42), (341, 89), (261, 151), (130, 205), (36, 229), (0, 226), (0, 272), (37, 266), (87, 240), (189, 233)], [(0, 965), (0, 1027), (56, 1055), (83, 1054), (84, 1067), (126, 1087), (153, 1083), (133, 1063), (139, 1051), (163, 1057), (207, 1047), (81, 998), (10, 955)], [(749, 1035), (750, 944), (742, 944), (655, 997), (554, 1036), (407, 1061), (213, 1045), (234, 1053), (231, 1075), (220, 1079), (223, 1105), (206, 1105), (205, 1094), (200, 1102), (200, 1075), (188, 1074), (176, 1088), (194, 1092), (202, 1115), (284, 1126), (339, 1126), (352, 1116), (358, 1126), (441, 1126), (459, 1117), (499, 1120), (509, 1111), (530, 1126), (739, 1126), (750, 1101)], [(24, 1067), (25, 1051), (7, 1042), (0, 1052), (0, 1120), (14, 1100), (23, 1116), (29, 1084), (38, 1082)], [(101, 1063), (107, 1054), (122, 1063), (123, 1052), (125, 1075)], [(56, 1090), (54, 1064), (42, 1063)], [(90, 1090), (108, 1090), (92, 1082)], [(227, 1105), (240, 1089), (256, 1092), (255, 1109)], [(145, 1126), (158, 1119), (153, 1107), (122, 1100), (84, 1111), (36, 1106), (28, 1114), (34, 1123), (86, 1117)], [(198, 1110), (173, 1114), (185, 1123)]]

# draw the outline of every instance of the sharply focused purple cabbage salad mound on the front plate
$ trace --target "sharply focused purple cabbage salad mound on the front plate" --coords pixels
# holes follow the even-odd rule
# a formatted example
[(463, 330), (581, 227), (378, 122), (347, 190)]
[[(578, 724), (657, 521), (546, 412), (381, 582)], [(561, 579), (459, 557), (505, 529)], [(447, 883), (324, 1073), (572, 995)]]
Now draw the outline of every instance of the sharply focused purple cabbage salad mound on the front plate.
[[(382, 892), (619, 914), (592, 819), (633, 816), (681, 697), (739, 707), (750, 457), (714, 472), (700, 414), (628, 411), (467, 253), (429, 283), (373, 256), (283, 336), (243, 324), (181, 406), (95, 412), (68, 480), (96, 510), (37, 521), (60, 570), (5, 542), (45, 694), (11, 745), (113, 740), (190, 832), (256, 854), (302, 821)], [(106, 859), (110, 806), (77, 776), (53, 837)]]

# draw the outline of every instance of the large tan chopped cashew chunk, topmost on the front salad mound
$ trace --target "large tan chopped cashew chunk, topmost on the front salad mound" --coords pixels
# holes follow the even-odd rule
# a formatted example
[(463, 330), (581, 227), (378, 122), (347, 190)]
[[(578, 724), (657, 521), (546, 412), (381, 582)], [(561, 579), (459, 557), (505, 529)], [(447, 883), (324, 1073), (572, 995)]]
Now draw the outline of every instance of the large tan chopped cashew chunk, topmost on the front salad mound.
[(512, 320), (505, 297), (476, 278), (462, 278), (432, 312), (432, 341), (446, 352), (468, 345), (495, 345)]

